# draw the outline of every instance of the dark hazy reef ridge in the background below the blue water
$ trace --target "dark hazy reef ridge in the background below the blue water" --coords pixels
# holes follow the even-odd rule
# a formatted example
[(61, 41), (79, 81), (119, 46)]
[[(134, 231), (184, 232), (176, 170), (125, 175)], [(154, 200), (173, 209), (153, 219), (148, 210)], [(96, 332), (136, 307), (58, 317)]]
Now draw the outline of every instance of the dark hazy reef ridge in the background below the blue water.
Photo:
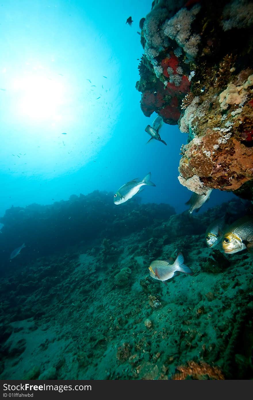
[[(98, 190), (86, 196), (72, 195), (69, 200), (52, 205), (9, 208), (0, 218), (4, 224), (0, 235), (2, 271), (76, 244), (85, 247), (96, 241), (100, 245), (103, 239), (123, 238), (172, 214), (175, 210), (169, 204), (151, 204), (147, 208), (139, 204), (139, 198), (118, 207), (113, 193)], [(22, 243), (26, 245), (22, 257), (10, 261), (11, 252)]]

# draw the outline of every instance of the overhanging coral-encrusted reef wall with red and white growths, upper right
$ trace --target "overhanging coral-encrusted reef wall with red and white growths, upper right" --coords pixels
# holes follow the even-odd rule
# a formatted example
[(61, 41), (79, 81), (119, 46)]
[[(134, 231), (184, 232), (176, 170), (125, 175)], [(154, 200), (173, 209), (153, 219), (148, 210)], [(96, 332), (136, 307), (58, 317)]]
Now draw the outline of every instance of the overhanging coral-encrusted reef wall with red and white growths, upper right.
[(143, 24), (141, 110), (178, 123), (188, 135), (181, 184), (251, 199), (253, 6), (249, 0), (182, 3), (154, 2)]

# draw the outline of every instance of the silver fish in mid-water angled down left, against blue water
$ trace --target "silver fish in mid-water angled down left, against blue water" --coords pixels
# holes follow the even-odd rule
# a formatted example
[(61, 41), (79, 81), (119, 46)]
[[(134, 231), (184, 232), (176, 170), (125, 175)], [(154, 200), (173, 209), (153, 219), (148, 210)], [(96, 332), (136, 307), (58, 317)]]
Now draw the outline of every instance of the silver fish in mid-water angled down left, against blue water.
[(114, 204), (122, 204), (127, 200), (132, 198), (135, 194), (143, 190), (142, 186), (155, 186), (153, 182), (150, 181), (151, 172), (149, 172), (143, 179), (133, 179), (130, 182), (125, 183), (119, 190), (114, 194)]

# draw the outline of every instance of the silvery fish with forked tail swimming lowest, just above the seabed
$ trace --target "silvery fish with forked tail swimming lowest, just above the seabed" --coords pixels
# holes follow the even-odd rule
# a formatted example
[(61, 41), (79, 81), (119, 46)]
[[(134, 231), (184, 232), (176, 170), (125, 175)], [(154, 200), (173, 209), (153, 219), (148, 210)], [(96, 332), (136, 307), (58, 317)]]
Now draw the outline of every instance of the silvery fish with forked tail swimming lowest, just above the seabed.
[(184, 272), (185, 274), (193, 275), (191, 268), (184, 264), (183, 254), (179, 253), (175, 262), (171, 258), (169, 260), (155, 260), (152, 261), (149, 266), (149, 274), (152, 278), (165, 280), (173, 278), (173, 276), (179, 275), (179, 272)]

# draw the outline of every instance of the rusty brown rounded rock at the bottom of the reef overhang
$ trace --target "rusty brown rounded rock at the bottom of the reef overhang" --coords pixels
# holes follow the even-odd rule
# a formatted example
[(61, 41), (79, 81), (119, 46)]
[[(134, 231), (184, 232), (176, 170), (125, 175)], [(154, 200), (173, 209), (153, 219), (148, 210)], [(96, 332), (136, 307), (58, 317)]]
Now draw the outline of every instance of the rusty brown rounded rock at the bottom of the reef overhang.
[(200, 177), (205, 186), (220, 190), (236, 190), (253, 178), (253, 148), (234, 137), (227, 139), (219, 132), (207, 130), (192, 140), (180, 160), (179, 171), (185, 179)]

